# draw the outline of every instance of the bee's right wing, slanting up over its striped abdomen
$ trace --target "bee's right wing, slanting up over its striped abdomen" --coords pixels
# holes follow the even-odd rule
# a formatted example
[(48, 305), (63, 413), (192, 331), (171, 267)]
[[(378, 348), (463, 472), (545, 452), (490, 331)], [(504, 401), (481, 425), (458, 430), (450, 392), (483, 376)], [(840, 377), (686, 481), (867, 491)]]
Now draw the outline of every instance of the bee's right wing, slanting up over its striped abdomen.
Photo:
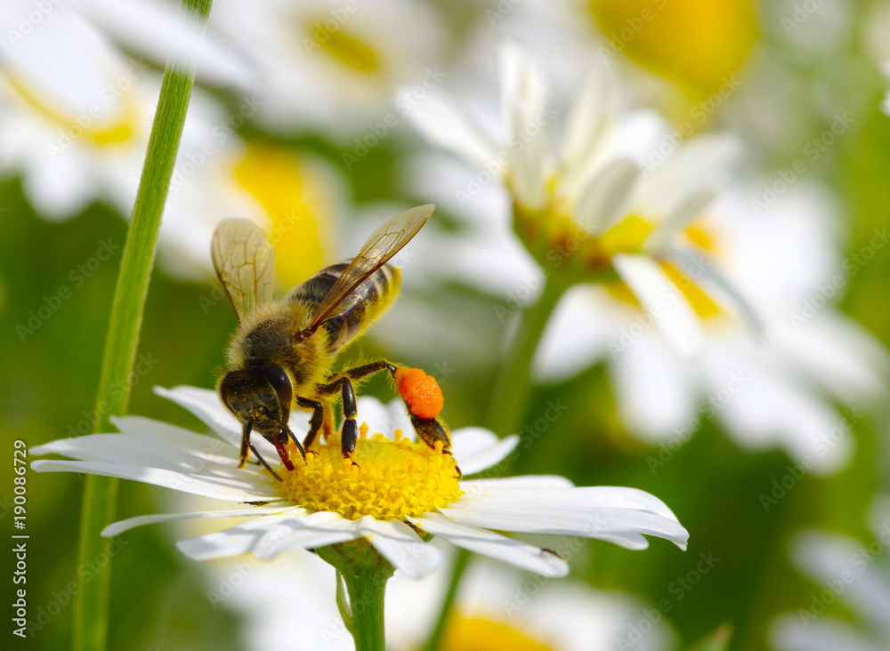
[(401, 247), (407, 245), (411, 238), (417, 235), (417, 231), (424, 227), (434, 208), (433, 204), (418, 205), (417, 208), (397, 214), (371, 233), (371, 237), (368, 237), (359, 254), (352, 258), (352, 262), (337, 278), (325, 296), (324, 302), (313, 315), (312, 323), (306, 329), (314, 332), (334, 314), (337, 306), (352, 293), (353, 289), (383, 267), (393, 255), (399, 253)]

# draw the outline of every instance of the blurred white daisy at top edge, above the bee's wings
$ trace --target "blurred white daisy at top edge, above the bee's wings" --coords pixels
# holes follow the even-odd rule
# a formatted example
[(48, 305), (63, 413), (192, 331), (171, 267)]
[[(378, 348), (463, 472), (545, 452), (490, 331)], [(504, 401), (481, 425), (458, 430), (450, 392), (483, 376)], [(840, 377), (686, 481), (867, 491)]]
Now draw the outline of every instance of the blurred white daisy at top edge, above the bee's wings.
[[(397, 84), (437, 84), (444, 42), (433, 6), (408, 0), (214, 3), (210, 27), (247, 52), (260, 74), (259, 117), (287, 131), (338, 141), (376, 126), (384, 137)], [(382, 133), (380, 133), (382, 130)]]

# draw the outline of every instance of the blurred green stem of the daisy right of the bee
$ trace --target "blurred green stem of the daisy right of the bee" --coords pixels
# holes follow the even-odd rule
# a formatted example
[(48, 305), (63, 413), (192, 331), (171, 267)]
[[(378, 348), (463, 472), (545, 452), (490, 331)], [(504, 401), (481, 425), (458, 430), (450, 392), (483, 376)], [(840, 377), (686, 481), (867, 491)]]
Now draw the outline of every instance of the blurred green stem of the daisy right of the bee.
[[(522, 315), (522, 323), (514, 340), (514, 350), (500, 369), (487, 423), (490, 430), (502, 437), (519, 430), (529, 401), (532, 359), (538, 350), (544, 328), (567, 287), (568, 285), (563, 285), (553, 277), (547, 278), (538, 302)], [(442, 602), (439, 620), (426, 643), (426, 651), (438, 651), (441, 645), (445, 626), (457, 598), (457, 587), (469, 560), (469, 551), (457, 551), (457, 559), (451, 569), (449, 590)]]

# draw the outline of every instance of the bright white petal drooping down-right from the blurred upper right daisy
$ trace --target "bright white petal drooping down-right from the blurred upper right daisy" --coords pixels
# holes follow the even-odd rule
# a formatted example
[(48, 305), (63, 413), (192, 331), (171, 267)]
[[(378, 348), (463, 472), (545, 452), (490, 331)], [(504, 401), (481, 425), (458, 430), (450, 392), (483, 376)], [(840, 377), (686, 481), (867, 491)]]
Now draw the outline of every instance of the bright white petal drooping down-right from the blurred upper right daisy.
[(681, 358), (692, 358), (704, 336), (695, 311), (658, 262), (647, 255), (618, 253), (612, 264)]

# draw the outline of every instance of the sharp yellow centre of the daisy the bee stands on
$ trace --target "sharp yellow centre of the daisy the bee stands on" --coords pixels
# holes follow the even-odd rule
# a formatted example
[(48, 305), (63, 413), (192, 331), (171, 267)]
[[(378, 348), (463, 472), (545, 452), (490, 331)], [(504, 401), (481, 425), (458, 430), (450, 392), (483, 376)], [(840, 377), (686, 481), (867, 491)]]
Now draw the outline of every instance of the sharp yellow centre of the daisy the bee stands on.
[(394, 438), (368, 438), (368, 426), (362, 425), (352, 462), (343, 458), (339, 436), (314, 444), (305, 462), (290, 445), (294, 470), (282, 475), (281, 486), (291, 500), (311, 511), (333, 511), (346, 519), (417, 518), (462, 494), (454, 458), (442, 454), (441, 444), (433, 450), (402, 438), (401, 430)]

